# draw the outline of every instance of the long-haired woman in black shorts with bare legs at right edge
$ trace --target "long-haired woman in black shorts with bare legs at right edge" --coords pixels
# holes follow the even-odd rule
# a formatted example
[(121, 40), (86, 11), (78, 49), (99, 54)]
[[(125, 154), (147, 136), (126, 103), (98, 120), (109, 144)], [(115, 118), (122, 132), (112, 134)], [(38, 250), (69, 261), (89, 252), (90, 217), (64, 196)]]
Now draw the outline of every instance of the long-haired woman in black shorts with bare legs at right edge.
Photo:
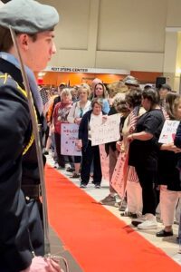
[[(165, 129), (165, 138), (168, 132), (175, 133), (173, 128), (178, 125), (177, 121), (181, 120), (181, 99), (176, 93), (167, 93), (166, 98), (167, 114), (169, 116), (169, 127)], [(163, 130), (164, 131), (164, 130)], [(168, 131), (168, 132), (167, 132)], [(163, 134), (163, 133), (161, 133)], [(160, 137), (161, 138), (161, 137)], [(176, 136), (176, 144), (177, 144)], [(173, 236), (172, 225), (174, 224), (174, 216), (176, 211), (176, 204), (179, 197), (181, 197), (181, 186), (179, 180), (179, 170), (176, 167), (180, 157), (179, 149), (174, 145), (174, 139), (165, 141), (164, 137), (160, 139), (161, 147), (158, 159), (158, 183), (160, 187), (160, 209), (161, 218), (163, 219), (164, 229), (157, 232), (157, 237)], [(164, 143), (163, 143), (164, 142)], [(179, 145), (178, 145), (179, 146)]]

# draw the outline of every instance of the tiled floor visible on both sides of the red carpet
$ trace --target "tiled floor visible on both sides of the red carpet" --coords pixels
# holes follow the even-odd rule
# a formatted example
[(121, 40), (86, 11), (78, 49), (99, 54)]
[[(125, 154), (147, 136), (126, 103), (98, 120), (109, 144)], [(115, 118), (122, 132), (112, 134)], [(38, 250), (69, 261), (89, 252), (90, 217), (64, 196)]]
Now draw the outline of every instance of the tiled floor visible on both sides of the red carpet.
[[(50, 165), (53, 166), (53, 160), (51, 156), (47, 156), (47, 161)], [(66, 170), (58, 170), (61, 171), (63, 175), (65, 175), (67, 178), (69, 178), (76, 186), (80, 186), (80, 180), (79, 179), (71, 179), (71, 173), (68, 173)], [(100, 199), (103, 199), (105, 196), (109, 194), (109, 184), (105, 181), (101, 183), (101, 189), (95, 189), (93, 184), (88, 185), (86, 189), (83, 189), (88, 195), (90, 195), (93, 199), (96, 199), (97, 201), (100, 201)], [(131, 221), (129, 218), (126, 217), (120, 217), (120, 211), (118, 208), (111, 207), (111, 206), (104, 206), (106, 209), (109, 209), (110, 212), (116, 216), (118, 219), (123, 220), (128, 224), (131, 225)], [(163, 225), (161, 223), (158, 223), (157, 230), (138, 230), (138, 233), (143, 236), (144, 238), (148, 239), (149, 242), (151, 242), (153, 245), (155, 245), (157, 248), (161, 248), (163, 251), (166, 252), (166, 254), (173, 258), (177, 263), (181, 265), (181, 254), (178, 254), (178, 245), (176, 244), (176, 236), (178, 232), (178, 225), (174, 225), (174, 236), (168, 237), (168, 238), (157, 238), (156, 232), (163, 228)], [(63, 257), (66, 257), (69, 263), (70, 270), (73, 272), (81, 272), (81, 267), (79, 267), (78, 263), (75, 261), (75, 259), (71, 256), (70, 252), (65, 250), (63, 248), (62, 242), (57, 241), (57, 236), (51, 231), (51, 242), (52, 242), (52, 253), (61, 254)]]

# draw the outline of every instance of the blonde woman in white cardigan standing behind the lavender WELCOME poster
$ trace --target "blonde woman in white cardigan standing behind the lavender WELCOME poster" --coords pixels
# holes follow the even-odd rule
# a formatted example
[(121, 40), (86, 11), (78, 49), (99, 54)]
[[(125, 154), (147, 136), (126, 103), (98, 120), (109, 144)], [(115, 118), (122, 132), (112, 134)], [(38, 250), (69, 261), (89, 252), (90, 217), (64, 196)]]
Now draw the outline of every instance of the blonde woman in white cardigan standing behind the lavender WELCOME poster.
[[(73, 103), (71, 111), (69, 112), (69, 115), (67, 117), (67, 121), (80, 125), (84, 113), (90, 110), (91, 102), (88, 100), (88, 97), (90, 95), (90, 86), (86, 83), (82, 83), (78, 92), (80, 101)], [(74, 156), (75, 171), (72, 174), (71, 178), (75, 179), (80, 177), (80, 167), (81, 157)]]

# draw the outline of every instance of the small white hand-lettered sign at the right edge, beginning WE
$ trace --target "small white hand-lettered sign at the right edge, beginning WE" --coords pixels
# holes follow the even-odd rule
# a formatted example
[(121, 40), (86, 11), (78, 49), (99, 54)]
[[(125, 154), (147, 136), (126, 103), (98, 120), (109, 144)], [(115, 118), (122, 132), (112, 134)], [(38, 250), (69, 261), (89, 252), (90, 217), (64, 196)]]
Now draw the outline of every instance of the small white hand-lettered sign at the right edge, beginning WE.
[(160, 143), (172, 143), (176, 137), (176, 130), (180, 121), (166, 120), (159, 136)]

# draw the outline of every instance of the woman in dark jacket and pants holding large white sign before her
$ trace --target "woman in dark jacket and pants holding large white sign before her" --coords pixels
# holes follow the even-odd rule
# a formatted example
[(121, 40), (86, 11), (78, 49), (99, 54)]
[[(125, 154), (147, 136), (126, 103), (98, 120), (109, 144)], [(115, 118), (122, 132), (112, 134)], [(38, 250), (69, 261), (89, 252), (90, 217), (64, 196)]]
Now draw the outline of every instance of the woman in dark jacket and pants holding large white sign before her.
[(102, 101), (96, 98), (91, 103), (92, 110), (86, 112), (82, 119), (79, 129), (79, 147), (82, 153), (81, 165), (81, 188), (86, 188), (90, 180), (90, 166), (93, 161), (93, 183), (95, 188), (100, 188), (102, 179), (101, 165), (100, 165), (100, 149), (99, 145), (91, 146), (91, 128), (94, 122), (102, 123)]

